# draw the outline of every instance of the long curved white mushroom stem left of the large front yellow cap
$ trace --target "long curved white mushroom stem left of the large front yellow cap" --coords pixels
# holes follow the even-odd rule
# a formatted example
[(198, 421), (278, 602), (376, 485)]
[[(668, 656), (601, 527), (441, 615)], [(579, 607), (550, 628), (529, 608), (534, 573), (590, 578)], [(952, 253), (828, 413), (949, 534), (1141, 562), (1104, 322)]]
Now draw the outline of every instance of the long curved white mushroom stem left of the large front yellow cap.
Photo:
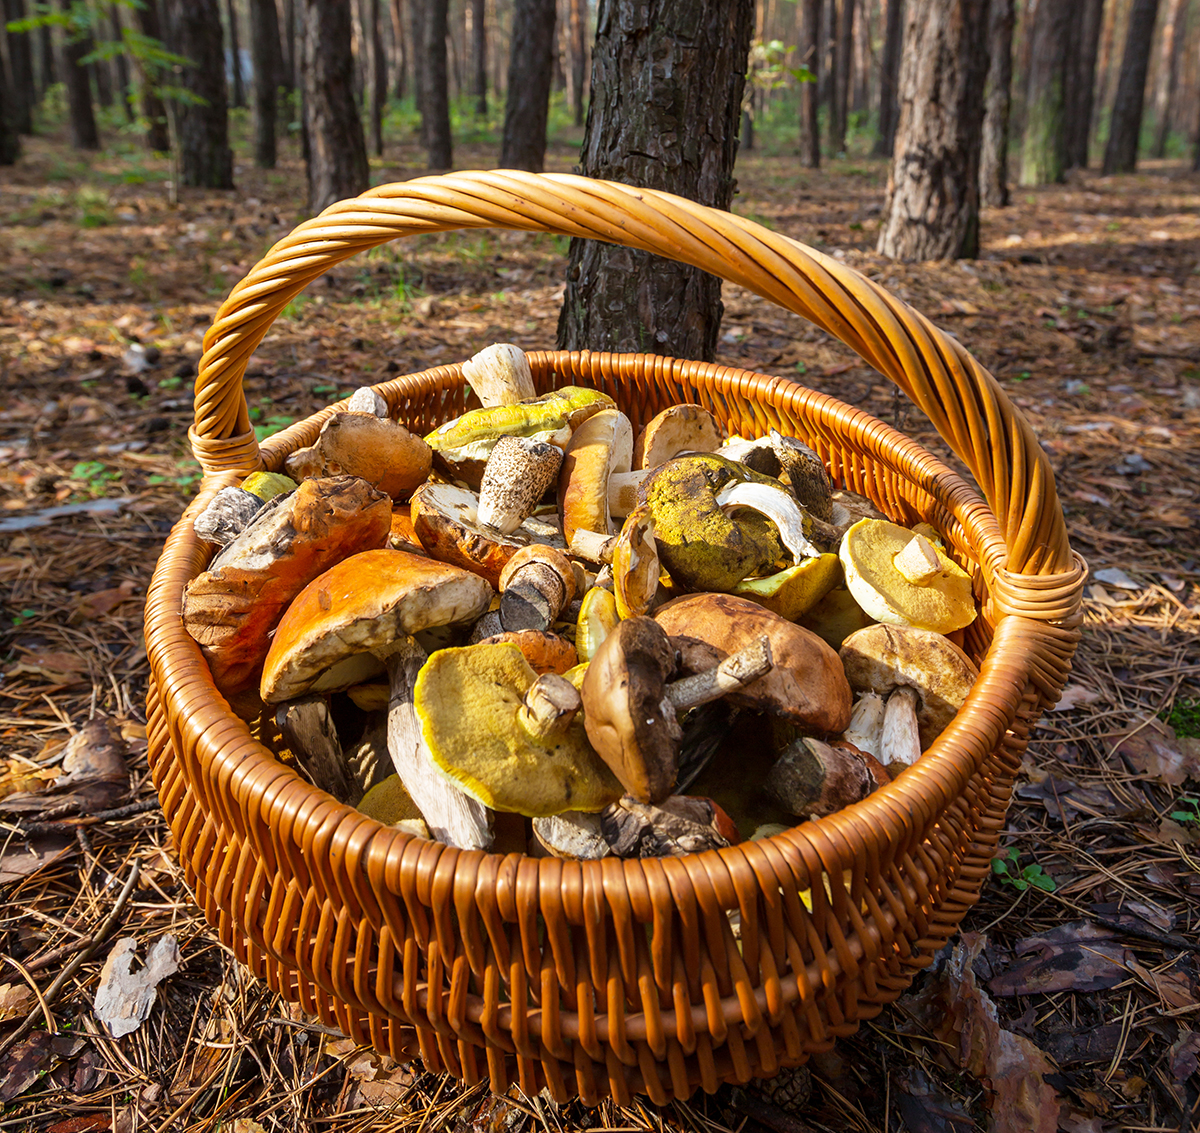
[(492, 844), (487, 808), (458, 790), (438, 771), (421, 735), (413, 707), (413, 685), (426, 661), (413, 637), (376, 649), (388, 666), (391, 699), (388, 703), (388, 751), (396, 774), (425, 817), (437, 841), (461, 850), (486, 850)]

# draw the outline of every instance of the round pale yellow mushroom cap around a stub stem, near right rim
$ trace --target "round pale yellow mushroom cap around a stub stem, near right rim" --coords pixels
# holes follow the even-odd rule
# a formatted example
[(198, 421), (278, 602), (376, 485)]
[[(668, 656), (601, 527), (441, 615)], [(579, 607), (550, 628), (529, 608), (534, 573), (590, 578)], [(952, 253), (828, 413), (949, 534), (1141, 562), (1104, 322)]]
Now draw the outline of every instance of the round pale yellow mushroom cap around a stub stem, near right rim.
[(877, 622), (916, 625), (949, 634), (976, 618), (971, 576), (940, 547), (926, 544), (941, 570), (928, 582), (910, 582), (895, 557), (912, 542), (906, 527), (888, 520), (859, 520), (842, 536), (839, 557), (854, 601)]

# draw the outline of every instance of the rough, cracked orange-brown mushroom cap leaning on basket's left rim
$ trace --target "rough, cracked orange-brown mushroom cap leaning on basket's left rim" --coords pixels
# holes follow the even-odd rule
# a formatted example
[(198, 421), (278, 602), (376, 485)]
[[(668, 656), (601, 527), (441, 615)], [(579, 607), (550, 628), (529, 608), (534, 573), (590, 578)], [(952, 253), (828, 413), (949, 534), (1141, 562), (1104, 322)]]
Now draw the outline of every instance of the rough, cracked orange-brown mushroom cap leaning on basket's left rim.
[(391, 500), (354, 476), (306, 480), (276, 500), (184, 594), (184, 627), (227, 697), (257, 683), (292, 599), (341, 559), (384, 546), (391, 528)]

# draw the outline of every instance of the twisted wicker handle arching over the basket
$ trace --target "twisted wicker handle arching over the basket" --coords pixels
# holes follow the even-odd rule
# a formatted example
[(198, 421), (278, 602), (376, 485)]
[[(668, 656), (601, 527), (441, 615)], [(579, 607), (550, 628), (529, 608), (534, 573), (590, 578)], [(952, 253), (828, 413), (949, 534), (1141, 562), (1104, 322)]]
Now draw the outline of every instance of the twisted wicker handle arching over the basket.
[[(246, 364), (283, 307), (364, 248), (458, 228), (620, 244), (738, 283), (840, 338), (908, 395), (974, 474), (1008, 547), (1004, 575), (1076, 575), (1050, 464), (967, 350), (857, 271), (751, 221), (653, 190), (566, 174), (456, 173), (384, 185), (300, 224), (229, 294), (204, 337), (192, 445), (205, 472), (252, 469)], [(1049, 580), (1048, 580), (1049, 581)], [(1043, 613), (1043, 617), (1045, 615)]]

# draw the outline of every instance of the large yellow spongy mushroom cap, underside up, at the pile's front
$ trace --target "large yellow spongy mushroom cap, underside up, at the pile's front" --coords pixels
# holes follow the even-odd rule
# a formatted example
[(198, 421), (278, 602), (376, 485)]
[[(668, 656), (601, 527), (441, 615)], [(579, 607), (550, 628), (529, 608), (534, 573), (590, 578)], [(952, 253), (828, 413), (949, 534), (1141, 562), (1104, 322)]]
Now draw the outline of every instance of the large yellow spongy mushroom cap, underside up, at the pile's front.
[(530, 703), (534, 688), (564, 685), (577, 705), (569, 682), (538, 677), (516, 646), (464, 646), (426, 661), (413, 703), (434, 763), (485, 807), (528, 817), (602, 810), (623, 790), (588, 743), (582, 714), (544, 723)]

